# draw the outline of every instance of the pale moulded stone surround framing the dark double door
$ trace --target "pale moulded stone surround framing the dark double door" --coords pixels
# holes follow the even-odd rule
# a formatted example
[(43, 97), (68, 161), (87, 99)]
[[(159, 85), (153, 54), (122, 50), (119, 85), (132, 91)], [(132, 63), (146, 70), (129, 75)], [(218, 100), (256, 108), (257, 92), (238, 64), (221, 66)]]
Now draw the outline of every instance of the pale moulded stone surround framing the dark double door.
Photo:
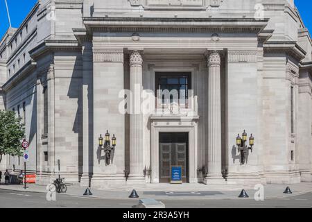
[(198, 118), (151, 116), (150, 159), (152, 183), (159, 183), (159, 133), (189, 133), (189, 183), (197, 183)]

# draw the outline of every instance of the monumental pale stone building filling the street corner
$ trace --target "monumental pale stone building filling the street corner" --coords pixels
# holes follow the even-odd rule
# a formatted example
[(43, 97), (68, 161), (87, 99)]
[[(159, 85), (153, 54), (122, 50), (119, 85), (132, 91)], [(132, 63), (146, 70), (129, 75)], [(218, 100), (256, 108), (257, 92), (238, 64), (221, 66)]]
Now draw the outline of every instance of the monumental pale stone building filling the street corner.
[(311, 182), (311, 50), (292, 0), (40, 0), (1, 40), (0, 108), (23, 117), (39, 184), (58, 160), (82, 186), (170, 182), (173, 165), (189, 183)]

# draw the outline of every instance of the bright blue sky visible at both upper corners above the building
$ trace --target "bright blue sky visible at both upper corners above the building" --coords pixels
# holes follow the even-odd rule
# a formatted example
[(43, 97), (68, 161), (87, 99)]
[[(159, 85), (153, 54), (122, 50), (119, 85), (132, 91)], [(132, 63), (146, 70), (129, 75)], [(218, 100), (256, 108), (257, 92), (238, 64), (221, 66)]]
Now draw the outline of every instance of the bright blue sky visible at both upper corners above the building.
[[(6, 15), (5, 0), (0, 0), (0, 38), (6, 33), (9, 27), (8, 17)], [(31, 8), (35, 5), (37, 0), (7, 0), (10, 10), (10, 17), (12, 27), (18, 28), (24, 18), (30, 12)], [(234, 0), (231, 0), (234, 1)], [(248, 1), (248, 0), (246, 0)], [(297, 8), (299, 8), (304, 19), (304, 24), (309, 28), (312, 33), (312, 1), (311, 0), (295, 0)]]

